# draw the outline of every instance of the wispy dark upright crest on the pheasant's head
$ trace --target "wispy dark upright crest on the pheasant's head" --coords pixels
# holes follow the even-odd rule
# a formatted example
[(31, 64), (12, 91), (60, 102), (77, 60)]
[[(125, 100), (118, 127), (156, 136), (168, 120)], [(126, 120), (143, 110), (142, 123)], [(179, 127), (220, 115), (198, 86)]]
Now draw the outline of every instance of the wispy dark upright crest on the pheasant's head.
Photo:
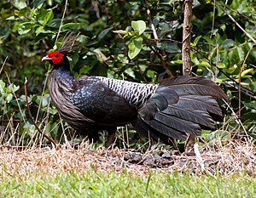
[(62, 40), (61, 47), (57, 51), (65, 55), (73, 54), (77, 48), (76, 40), (78, 37), (79, 33), (75, 34), (73, 31), (67, 32)]

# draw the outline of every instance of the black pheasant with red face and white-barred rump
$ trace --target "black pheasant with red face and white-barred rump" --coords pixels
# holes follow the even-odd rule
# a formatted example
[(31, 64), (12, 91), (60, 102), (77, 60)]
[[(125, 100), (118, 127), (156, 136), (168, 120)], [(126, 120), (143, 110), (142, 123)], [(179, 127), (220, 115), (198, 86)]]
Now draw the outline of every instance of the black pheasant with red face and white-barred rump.
[(73, 53), (74, 38), (49, 52), (50, 97), (61, 117), (90, 140), (107, 130), (113, 144), (116, 127), (131, 123), (137, 133), (165, 144), (201, 135), (201, 128), (214, 127), (222, 116), (217, 98), (226, 99), (217, 84), (202, 76), (176, 76), (159, 84), (128, 82), (103, 76), (75, 78), (67, 56)]

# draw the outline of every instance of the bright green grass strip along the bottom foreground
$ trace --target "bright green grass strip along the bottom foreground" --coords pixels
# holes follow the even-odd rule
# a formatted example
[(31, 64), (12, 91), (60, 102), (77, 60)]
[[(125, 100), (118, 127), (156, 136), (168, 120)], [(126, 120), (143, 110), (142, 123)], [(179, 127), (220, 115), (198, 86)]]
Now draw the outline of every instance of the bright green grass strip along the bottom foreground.
[(236, 173), (212, 177), (151, 171), (58, 173), (56, 176), (5, 178), (0, 197), (255, 197), (256, 178)]

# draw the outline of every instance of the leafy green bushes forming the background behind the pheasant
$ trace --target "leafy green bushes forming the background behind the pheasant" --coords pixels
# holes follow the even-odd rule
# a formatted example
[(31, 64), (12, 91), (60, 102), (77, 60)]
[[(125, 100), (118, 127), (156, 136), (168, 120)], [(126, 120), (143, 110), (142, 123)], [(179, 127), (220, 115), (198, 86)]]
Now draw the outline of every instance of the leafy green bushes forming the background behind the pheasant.
[[(202, 139), (212, 141), (218, 135), (224, 139), (255, 139), (256, 49), (252, 39), (228, 14), (255, 38), (256, 2), (213, 2), (194, 1), (193, 72), (217, 82), (230, 101), (229, 105), (220, 101), (226, 111), (224, 123), (218, 123), (213, 132), (203, 131)], [(69, 0), (61, 23), (65, 3), (0, 2), (1, 144), (25, 145), (32, 139), (39, 144), (42, 139), (26, 111), (25, 77), (32, 116), (38, 126), (56, 141), (65, 141), (66, 135), (67, 139), (73, 138), (73, 130), (49, 103), (45, 83), (50, 67), (40, 62), (50, 49), (60, 45), (67, 31), (80, 32), (77, 53), (70, 57), (74, 76), (99, 75), (156, 83), (168, 76), (166, 70), (174, 76), (181, 75), (182, 1)], [(145, 143), (143, 139), (138, 141), (129, 127), (119, 127), (119, 132), (119, 139), (125, 139), (125, 143), (118, 141), (119, 146), (129, 143), (139, 148)], [(129, 138), (125, 133), (129, 133)]]

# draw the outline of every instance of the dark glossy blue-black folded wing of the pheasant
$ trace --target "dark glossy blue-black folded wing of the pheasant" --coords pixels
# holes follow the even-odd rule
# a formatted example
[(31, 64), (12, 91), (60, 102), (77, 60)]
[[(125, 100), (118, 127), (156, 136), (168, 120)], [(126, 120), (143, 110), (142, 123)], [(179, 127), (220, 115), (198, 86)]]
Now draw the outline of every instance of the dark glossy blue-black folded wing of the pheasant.
[(137, 119), (137, 107), (95, 77), (76, 79), (69, 99), (98, 125), (116, 126)]

